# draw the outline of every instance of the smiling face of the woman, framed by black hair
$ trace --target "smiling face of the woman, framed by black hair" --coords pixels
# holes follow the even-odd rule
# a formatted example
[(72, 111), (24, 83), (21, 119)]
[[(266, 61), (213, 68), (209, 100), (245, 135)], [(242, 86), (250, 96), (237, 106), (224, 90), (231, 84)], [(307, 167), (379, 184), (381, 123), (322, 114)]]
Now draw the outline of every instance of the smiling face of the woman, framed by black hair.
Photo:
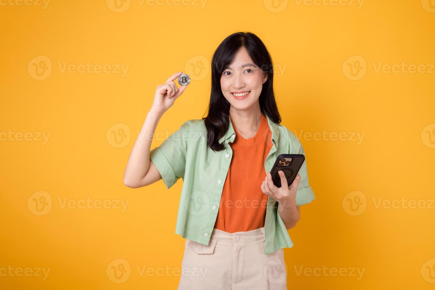
[(221, 90), (232, 107), (244, 110), (258, 102), (267, 79), (267, 75), (251, 60), (246, 48), (241, 47), (221, 75)]

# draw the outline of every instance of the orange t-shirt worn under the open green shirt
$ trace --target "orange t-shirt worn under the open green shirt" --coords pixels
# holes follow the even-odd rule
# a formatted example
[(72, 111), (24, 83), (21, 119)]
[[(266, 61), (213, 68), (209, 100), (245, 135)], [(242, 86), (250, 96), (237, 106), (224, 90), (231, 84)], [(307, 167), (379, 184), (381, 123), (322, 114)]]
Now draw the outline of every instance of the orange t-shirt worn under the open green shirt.
[(214, 224), (214, 228), (228, 233), (264, 227), (268, 195), (261, 191), (261, 183), (266, 177), (264, 161), (272, 147), (272, 132), (265, 115), (261, 114), (260, 127), (249, 139), (244, 139), (231, 123), (236, 134), (234, 142), (228, 143), (233, 157)]

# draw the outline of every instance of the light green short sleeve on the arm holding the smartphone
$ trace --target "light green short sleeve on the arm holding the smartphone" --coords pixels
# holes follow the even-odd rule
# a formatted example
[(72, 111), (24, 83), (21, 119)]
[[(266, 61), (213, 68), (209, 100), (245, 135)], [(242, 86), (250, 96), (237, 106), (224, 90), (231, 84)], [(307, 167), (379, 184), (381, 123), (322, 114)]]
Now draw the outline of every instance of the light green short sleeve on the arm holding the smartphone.
[[(301, 142), (293, 135), (292, 140), (293, 154), (303, 154), (305, 156), (304, 163), (302, 163), (301, 169), (299, 170), (299, 175), (301, 180), (299, 181), (298, 191), (296, 192), (296, 205), (300, 206), (305, 203), (310, 203), (316, 197), (314, 195), (313, 189), (308, 182), (308, 170), (307, 170), (307, 156), (305, 155), (304, 147)], [(294, 144), (294, 145), (293, 145)]]

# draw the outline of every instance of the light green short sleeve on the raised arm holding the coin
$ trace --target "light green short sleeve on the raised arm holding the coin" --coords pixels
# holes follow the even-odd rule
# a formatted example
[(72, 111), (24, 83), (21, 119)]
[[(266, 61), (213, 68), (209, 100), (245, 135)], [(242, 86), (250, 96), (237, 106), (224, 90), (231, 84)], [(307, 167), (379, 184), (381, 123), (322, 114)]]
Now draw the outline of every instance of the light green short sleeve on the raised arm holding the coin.
[(188, 132), (183, 124), (160, 146), (150, 151), (150, 159), (159, 170), (167, 189), (171, 188), (180, 177), (184, 178), (187, 140)]

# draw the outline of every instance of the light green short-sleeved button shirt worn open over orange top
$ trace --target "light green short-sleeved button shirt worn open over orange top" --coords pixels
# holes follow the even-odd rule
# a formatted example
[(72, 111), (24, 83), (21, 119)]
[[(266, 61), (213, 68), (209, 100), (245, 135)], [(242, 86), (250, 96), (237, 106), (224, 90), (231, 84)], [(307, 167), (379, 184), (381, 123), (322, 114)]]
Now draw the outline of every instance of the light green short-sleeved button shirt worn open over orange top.
[[(270, 172), (279, 154), (305, 155), (305, 152), (294, 133), (285, 126), (274, 123), (269, 117), (267, 119), (272, 132), (273, 145), (264, 162), (264, 169)], [(160, 146), (150, 152), (150, 158), (168, 189), (180, 177), (183, 179), (175, 233), (204, 245), (210, 242), (222, 189), (231, 163), (232, 150), (228, 142), (234, 140), (235, 133), (229, 117), (228, 123), (225, 136), (219, 140), (219, 143), (224, 142), (224, 150), (214, 152), (208, 147), (204, 120), (196, 119), (187, 120)], [(315, 199), (308, 183), (306, 160), (299, 174), (301, 180), (296, 193), (298, 206)], [(264, 243), (264, 254), (274, 253), (284, 247), (293, 247), (278, 213), (278, 203), (270, 196), (264, 222)]]

